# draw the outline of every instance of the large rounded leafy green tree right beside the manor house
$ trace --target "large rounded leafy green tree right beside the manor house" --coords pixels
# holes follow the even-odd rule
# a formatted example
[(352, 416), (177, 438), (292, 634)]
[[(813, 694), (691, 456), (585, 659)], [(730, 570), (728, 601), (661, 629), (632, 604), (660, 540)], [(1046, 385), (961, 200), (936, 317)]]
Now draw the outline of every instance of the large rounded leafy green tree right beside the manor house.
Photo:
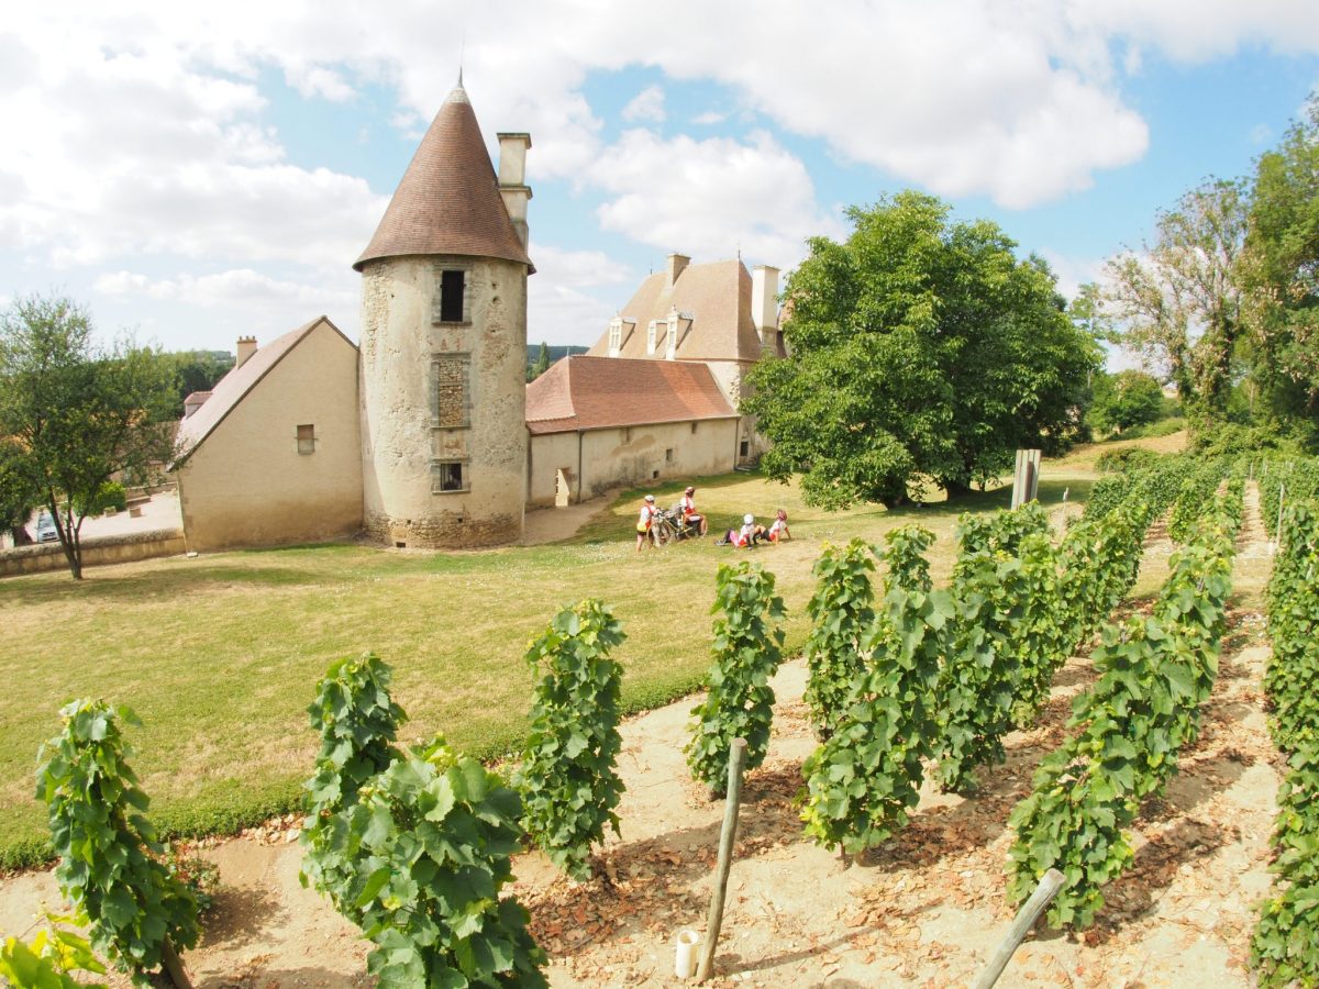
[(919, 193), (848, 216), (852, 236), (813, 239), (787, 281), (790, 356), (751, 375), (765, 471), (801, 473), (813, 504), (896, 505), (927, 479), (959, 493), (1010, 471), (1017, 447), (1066, 447), (1099, 348), (1047, 265)]

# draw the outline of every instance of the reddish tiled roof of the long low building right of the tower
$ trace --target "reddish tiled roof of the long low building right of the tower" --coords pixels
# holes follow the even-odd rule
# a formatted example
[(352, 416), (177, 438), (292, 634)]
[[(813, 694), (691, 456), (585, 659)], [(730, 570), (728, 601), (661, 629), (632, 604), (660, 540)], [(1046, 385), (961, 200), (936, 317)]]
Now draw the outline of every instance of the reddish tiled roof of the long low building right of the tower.
[(736, 417), (704, 364), (578, 355), (526, 386), (526, 429), (533, 436)]

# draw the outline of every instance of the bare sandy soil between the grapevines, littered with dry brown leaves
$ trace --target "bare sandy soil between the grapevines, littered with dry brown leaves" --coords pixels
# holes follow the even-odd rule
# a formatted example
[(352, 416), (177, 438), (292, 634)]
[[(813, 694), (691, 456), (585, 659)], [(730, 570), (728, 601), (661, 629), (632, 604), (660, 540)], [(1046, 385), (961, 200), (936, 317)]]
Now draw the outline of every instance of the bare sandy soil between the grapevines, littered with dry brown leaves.
[[(1240, 547), (1268, 554), (1252, 488)], [(1157, 543), (1151, 549), (1158, 553)], [(1257, 583), (1265, 567), (1245, 567)], [(1253, 592), (1258, 587), (1240, 588)], [(1014, 986), (1248, 986), (1253, 903), (1269, 886), (1268, 840), (1278, 757), (1262, 713), (1262, 621), (1229, 616), (1220, 675), (1196, 745), (1133, 835), (1134, 868), (1082, 938), (1037, 931), (1013, 960)], [(1008, 815), (1039, 760), (1063, 737), (1071, 698), (1091, 682), (1084, 659), (1059, 674), (1039, 724), (1006, 740), (1006, 765), (984, 770), (973, 799), (926, 787), (911, 824), (863, 864), (801, 835), (793, 799), (814, 746), (801, 703), (806, 670), (786, 665), (766, 764), (747, 781), (737, 860), (714, 985), (859, 986), (967, 984), (1010, 919), (1004, 866)], [(572, 884), (539, 856), (514, 864), (516, 893), (547, 949), (554, 986), (677, 984), (673, 939), (704, 926), (721, 804), (690, 781), (681, 746), (692, 702), (629, 720), (620, 771), (623, 836), (604, 853), (607, 881)], [(297, 882), (295, 822), (276, 822), (204, 854), (224, 889), (206, 943), (187, 956), (198, 986), (355, 986), (365, 945)], [(24, 930), (49, 874), (0, 885), (0, 927)]]

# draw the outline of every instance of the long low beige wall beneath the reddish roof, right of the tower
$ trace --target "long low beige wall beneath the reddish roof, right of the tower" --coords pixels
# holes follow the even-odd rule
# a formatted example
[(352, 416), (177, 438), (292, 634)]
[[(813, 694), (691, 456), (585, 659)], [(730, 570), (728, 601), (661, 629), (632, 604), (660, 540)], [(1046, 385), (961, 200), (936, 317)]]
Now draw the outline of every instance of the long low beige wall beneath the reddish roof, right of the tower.
[[(532, 436), (528, 497), (534, 506), (554, 504), (555, 469), (570, 468), (572, 500), (592, 498), (609, 488), (656, 479), (699, 477), (733, 469), (737, 421), (666, 422), (627, 429), (554, 433)], [(578, 436), (582, 476), (578, 479)], [(673, 451), (673, 458), (667, 454)]]

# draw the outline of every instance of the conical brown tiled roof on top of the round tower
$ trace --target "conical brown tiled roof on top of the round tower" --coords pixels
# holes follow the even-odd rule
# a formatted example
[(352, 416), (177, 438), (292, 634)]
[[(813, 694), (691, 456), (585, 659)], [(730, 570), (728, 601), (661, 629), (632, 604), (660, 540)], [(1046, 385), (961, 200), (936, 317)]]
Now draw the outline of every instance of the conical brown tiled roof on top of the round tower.
[(352, 266), (360, 272), (375, 258), (413, 255), (500, 257), (532, 266), (462, 82), (431, 121), (376, 235)]

